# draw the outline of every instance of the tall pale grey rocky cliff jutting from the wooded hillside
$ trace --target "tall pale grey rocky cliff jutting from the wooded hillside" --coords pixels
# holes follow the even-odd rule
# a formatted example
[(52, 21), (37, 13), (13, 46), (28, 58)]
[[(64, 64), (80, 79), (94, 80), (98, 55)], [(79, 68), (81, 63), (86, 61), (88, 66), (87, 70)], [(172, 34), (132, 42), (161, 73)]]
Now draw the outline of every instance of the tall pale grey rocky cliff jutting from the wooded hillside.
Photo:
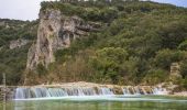
[(41, 11), (37, 40), (29, 51), (26, 68), (35, 69), (38, 64), (47, 68), (50, 63), (55, 62), (57, 50), (69, 47), (73, 40), (97, 31), (96, 28), (96, 24), (78, 16), (66, 16), (58, 10)]

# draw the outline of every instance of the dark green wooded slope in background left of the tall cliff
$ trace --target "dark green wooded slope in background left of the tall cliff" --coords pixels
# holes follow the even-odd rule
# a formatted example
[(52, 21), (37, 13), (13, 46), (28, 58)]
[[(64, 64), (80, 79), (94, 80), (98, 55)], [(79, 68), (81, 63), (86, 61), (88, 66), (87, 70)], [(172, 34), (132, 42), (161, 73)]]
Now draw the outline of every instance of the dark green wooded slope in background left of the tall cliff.
[[(26, 65), (28, 51), (36, 37), (37, 21), (0, 20), (0, 82), (7, 75), (8, 85), (20, 82)], [(24, 46), (10, 50), (13, 40), (30, 40)]]

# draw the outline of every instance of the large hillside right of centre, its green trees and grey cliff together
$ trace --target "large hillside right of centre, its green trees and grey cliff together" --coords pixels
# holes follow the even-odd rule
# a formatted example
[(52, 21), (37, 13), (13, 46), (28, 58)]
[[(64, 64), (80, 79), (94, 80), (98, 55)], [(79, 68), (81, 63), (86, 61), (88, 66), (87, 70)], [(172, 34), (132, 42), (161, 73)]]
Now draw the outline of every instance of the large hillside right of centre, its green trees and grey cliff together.
[[(41, 6), (25, 77), (10, 79), (187, 87), (187, 9), (138, 0)], [(173, 63), (180, 65), (178, 77), (168, 77)]]

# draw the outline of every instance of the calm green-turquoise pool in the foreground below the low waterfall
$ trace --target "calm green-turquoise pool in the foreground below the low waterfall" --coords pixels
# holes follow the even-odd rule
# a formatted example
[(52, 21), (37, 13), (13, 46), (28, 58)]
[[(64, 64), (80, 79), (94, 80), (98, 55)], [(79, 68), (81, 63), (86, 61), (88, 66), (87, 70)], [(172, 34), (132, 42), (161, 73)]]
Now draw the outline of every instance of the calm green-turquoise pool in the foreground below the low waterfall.
[[(2, 106), (0, 107), (2, 109)], [(87, 96), (13, 100), (7, 110), (187, 110), (187, 98), (163, 96)]]

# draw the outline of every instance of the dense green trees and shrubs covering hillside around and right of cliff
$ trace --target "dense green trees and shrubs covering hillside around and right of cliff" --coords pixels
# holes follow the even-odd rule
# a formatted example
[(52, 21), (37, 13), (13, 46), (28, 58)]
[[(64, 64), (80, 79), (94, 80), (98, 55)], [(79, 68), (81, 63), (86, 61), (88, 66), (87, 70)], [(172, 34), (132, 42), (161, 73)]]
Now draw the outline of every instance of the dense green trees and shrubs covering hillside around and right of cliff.
[[(56, 52), (56, 62), (31, 73), (35, 82), (94, 81), (155, 85), (174, 81), (187, 88), (187, 9), (170, 4), (113, 0), (42, 2), (41, 11), (61, 10), (102, 24), (100, 32), (77, 38)], [(182, 77), (170, 79), (172, 63)]]

